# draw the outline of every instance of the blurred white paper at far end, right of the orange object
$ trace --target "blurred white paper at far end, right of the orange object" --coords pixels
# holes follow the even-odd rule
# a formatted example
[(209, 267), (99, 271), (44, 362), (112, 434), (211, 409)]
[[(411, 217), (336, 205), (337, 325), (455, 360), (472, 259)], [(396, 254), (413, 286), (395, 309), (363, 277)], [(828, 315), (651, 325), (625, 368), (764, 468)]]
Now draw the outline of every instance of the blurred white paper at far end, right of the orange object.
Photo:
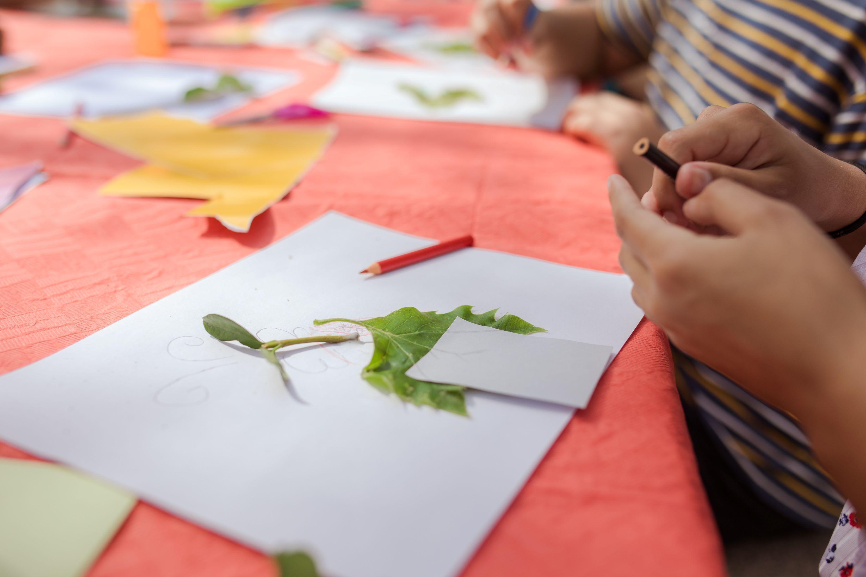
[(339, 6), (305, 6), (277, 12), (256, 32), (256, 42), (265, 46), (306, 48), (321, 38), (368, 50), (385, 38), (401, 32), (397, 18), (350, 10)]

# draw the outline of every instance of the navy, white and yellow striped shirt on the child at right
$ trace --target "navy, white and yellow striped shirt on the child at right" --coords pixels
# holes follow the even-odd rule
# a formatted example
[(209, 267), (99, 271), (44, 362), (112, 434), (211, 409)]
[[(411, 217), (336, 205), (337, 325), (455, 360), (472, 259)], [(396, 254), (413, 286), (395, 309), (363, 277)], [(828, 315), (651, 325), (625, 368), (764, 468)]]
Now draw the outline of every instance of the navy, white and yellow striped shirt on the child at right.
[[(649, 61), (647, 99), (669, 130), (751, 102), (832, 156), (866, 157), (866, 0), (598, 0), (597, 16)], [(795, 420), (679, 351), (675, 368), (758, 497), (805, 526), (836, 525), (844, 499)]]

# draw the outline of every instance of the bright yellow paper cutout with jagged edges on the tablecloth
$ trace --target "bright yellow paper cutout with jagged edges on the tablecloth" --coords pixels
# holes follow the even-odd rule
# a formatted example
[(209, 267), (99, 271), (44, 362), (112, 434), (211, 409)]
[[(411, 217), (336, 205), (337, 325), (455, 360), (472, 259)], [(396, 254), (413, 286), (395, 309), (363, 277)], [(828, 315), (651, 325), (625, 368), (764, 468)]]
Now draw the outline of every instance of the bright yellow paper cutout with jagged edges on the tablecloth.
[(101, 194), (208, 200), (187, 215), (216, 217), (237, 232), (285, 196), (335, 134), (332, 127), (216, 127), (158, 113), (72, 125), (84, 138), (151, 163), (117, 176)]

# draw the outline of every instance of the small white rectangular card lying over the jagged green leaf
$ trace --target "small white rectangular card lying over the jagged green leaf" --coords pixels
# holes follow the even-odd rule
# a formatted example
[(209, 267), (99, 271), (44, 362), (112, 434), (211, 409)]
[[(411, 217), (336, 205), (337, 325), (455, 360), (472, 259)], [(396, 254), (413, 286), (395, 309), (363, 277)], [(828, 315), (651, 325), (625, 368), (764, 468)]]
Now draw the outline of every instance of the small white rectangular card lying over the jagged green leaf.
[(610, 345), (518, 335), (458, 317), (406, 375), (584, 408), (610, 357)]

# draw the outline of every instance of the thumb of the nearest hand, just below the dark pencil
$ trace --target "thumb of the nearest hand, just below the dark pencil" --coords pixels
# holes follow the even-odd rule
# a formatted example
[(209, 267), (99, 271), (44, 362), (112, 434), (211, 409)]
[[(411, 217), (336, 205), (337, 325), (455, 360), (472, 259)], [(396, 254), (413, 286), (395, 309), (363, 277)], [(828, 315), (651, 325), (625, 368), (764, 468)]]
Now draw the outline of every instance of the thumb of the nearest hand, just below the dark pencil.
[(705, 227), (717, 226), (729, 234), (739, 235), (761, 226), (767, 209), (777, 204), (782, 202), (722, 178), (710, 183), (700, 195), (688, 199), (682, 205), (682, 213)]

